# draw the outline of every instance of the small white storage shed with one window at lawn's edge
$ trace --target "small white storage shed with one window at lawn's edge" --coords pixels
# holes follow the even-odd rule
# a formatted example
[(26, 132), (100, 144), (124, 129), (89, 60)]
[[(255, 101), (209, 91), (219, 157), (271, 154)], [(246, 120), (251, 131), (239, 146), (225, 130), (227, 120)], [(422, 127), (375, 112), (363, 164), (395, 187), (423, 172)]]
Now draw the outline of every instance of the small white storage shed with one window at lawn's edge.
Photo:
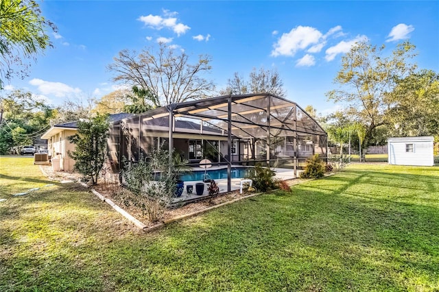
[(389, 138), (389, 164), (433, 166), (433, 141), (432, 136)]

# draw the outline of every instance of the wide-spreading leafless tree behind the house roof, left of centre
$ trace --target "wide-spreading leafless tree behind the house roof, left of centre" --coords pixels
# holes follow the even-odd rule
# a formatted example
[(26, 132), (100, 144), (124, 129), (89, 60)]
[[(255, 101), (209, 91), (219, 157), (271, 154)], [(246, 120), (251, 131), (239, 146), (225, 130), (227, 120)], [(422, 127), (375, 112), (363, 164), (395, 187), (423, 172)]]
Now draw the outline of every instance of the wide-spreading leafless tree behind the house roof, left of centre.
[(113, 80), (150, 90), (153, 97), (158, 97), (159, 106), (208, 97), (215, 88), (213, 82), (202, 77), (211, 71), (211, 57), (200, 55), (191, 64), (187, 53), (163, 43), (158, 51), (150, 47), (139, 54), (124, 49), (114, 61), (107, 66), (115, 73)]

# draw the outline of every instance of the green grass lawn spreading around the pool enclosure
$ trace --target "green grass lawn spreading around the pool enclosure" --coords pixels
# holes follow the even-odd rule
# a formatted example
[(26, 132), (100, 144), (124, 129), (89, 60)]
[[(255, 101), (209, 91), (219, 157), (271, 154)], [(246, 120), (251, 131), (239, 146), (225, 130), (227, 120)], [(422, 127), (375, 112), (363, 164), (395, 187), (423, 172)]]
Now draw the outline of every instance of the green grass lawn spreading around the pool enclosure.
[(28, 158), (0, 173), (0, 291), (439, 290), (439, 167), (351, 165), (152, 234)]

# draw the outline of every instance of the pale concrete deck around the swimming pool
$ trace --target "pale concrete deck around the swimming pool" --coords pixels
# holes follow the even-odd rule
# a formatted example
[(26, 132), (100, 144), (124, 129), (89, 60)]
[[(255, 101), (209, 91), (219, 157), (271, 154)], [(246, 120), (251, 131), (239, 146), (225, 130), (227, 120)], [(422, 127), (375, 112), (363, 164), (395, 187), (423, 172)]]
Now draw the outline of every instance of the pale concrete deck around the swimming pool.
[[(224, 167), (221, 167), (224, 168)], [(217, 167), (213, 168), (213, 169), (219, 169)], [(195, 170), (203, 170), (200, 167), (197, 167)], [(274, 176), (275, 178), (279, 179), (279, 180), (292, 180), (294, 179), (294, 170), (293, 169), (278, 169), (275, 168), (273, 169), (274, 171), (276, 171), (276, 175)], [(300, 171), (297, 171), (297, 174), (299, 175)], [(242, 178), (233, 178), (232, 181), (232, 185), (231, 185), (231, 190), (232, 191), (237, 191), (239, 190), (239, 187), (241, 185), (241, 180)], [(217, 183), (217, 186), (219, 187), (219, 193), (226, 193), (227, 192), (227, 179), (220, 179), (220, 180), (215, 180), (215, 182)], [(197, 195), (196, 191), (195, 191), (195, 184), (197, 183), (204, 183), (204, 192), (202, 195)], [(191, 194), (187, 193), (187, 189), (186, 186), (187, 185), (192, 185), (193, 186), (193, 191)], [(207, 191), (207, 188), (209, 186), (209, 182), (202, 182), (202, 180), (195, 180), (195, 181), (188, 181), (185, 182), (185, 189), (183, 190), (183, 193), (180, 197), (176, 197), (173, 199), (172, 204), (178, 204), (178, 203), (188, 203), (191, 201), (198, 201), (199, 199), (202, 199), (203, 197), (207, 197), (209, 196), (209, 193)]]

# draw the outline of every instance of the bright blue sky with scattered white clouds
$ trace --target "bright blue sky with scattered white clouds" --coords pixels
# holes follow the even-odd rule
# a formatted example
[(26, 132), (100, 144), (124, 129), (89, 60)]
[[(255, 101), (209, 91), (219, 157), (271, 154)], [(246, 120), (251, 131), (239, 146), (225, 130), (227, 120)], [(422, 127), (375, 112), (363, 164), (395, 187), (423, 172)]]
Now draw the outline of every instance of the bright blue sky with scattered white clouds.
[(367, 38), (391, 51), (416, 45), (420, 68), (439, 71), (439, 1), (50, 1), (40, 3), (58, 26), (55, 48), (33, 64), (25, 88), (51, 104), (102, 97), (117, 88), (106, 65), (122, 49), (158, 41), (213, 59), (217, 89), (238, 72), (276, 69), (287, 98), (327, 114), (344, 52)]

